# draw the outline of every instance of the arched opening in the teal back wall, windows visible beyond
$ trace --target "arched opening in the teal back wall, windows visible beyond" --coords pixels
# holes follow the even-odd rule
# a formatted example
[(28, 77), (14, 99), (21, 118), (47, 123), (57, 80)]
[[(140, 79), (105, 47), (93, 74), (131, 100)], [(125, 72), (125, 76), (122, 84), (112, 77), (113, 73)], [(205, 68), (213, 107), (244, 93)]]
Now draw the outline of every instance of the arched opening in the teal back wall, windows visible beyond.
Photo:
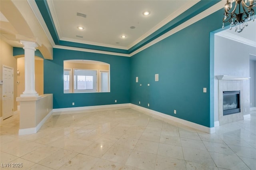
[(64, 61), (64, 93), (110, 92), (110, 65), (91, 60)]

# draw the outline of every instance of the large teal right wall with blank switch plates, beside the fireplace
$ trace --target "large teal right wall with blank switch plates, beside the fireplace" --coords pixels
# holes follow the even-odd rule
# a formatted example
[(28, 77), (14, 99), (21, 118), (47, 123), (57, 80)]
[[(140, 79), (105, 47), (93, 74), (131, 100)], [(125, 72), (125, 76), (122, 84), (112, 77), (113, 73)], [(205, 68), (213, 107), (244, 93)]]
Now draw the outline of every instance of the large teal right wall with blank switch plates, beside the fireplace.
[[(132, 56), (131, 103), (213, 127), (210, 32), (221, 27), (222, 13), (220, 10)], [(154, 81), (155, 74), (159, 81)], [(204, 87), (207, 93), (203, 93)]]

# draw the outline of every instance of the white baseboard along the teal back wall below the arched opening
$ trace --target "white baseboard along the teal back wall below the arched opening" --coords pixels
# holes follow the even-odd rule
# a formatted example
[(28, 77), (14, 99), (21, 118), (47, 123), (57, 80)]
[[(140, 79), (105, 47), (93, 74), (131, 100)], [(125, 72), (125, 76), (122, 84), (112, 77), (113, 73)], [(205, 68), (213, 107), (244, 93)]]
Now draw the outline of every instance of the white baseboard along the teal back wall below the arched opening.
[(123, 108), (130, 108), (130, 103), (52, 109), (52, 112), (53, 112), (52, 115), (64, 115), (64, 114), (79, 113), (79, 112), (85, 112), (85, 111), (103, 111), (103, 110), (123, 109)]

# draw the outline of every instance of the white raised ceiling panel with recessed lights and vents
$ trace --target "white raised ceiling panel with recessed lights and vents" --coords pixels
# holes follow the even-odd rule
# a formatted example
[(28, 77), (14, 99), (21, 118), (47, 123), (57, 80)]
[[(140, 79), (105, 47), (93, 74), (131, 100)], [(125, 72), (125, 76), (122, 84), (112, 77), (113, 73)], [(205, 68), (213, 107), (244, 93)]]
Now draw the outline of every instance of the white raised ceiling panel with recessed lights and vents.
[[(47, 1), (60, 40), (128, 49), (198, 0)], [(142, 13), (149, 11), (150, 15)], [(77, 12), (86, 18), (76, 16)], [(78, 26), (84, 27), (79, 30)], [(130, 27), (134, 26), (134, 29)], [(125, 35), (126, 38), (121, 38)], [(83, 36), (77, 38), (76, 36)]]

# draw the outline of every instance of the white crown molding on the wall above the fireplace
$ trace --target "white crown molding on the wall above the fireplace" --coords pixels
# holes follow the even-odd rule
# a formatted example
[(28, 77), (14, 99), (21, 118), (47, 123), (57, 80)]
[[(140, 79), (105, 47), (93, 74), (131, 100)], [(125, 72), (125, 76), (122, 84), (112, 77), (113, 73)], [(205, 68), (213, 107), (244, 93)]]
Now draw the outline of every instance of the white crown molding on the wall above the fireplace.
[(235, 34), (232, 34), (232, 33), (226, 32), (226, 31), (218, 32), (218, 33), (216, 33), (216, 35), (223, 37), (223, 38), (227, 38), (229, 40), (233, 40), (233, 41), (240, 42), (240, 43), (243, 43), (246, 45), (250, 45), (252, 47), (256, 47), (256, 42), (242, 38), (240, 36), (236, 36)]

